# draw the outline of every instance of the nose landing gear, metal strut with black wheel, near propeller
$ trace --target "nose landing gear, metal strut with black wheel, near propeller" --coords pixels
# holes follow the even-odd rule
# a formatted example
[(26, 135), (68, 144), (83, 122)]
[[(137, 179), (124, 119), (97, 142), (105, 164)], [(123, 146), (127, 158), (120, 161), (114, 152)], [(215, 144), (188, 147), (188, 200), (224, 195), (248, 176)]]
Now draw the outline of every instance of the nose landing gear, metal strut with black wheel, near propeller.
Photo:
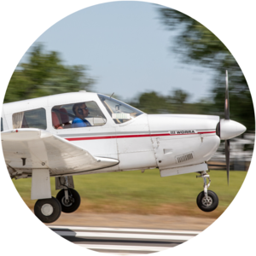
[[(204, 212), (212, 212), (218, 207), (218, 196), (212, 190), (208, 190), (211, 183), (210, 175), (206, 171), (203, 171), (201, 175), (196, 177), (202, 177), (204, 179), (204, 190), (197, 196), (197, 206)], [(207, 178), (209, 180), (208, 184)]]

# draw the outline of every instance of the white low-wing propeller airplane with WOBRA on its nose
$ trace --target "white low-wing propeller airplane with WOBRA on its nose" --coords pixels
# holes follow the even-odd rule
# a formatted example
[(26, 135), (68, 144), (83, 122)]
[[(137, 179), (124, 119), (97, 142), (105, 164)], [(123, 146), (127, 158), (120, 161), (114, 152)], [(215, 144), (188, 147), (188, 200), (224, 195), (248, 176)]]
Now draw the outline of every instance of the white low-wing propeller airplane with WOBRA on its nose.
[[(200, 172), (198, 207), (211, 212), (218, 196), (208, 190), (207, 160), (246, 127), (230, 120), (228, 79), (224, 119), (189, 114), (147, 114), (111, 96), (84, 90), (3, 104), (2, 145), (11, 178), (32, 177), (35, 215), (44, 223), (79, 208), (73, 175), (158, 168), (161, 177)], [(56, 198), (49, 177), (55, 177)], [(208, 183), (207, 183), (208, 179)]]

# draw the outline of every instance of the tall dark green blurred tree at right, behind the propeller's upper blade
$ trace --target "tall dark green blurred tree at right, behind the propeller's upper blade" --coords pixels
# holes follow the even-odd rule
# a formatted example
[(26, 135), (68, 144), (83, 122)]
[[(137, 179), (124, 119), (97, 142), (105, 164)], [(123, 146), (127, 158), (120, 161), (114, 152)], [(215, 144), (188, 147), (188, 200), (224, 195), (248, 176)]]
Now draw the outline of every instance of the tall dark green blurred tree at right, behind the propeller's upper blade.
[(208, 67), (215, 73), (210, 113), (224, 117), (225, 71), (229, 71), (230, 119), (255, 130), (253, 100), (247, 81), (229, 49), (200, 22), (174, 9), (157, 7), (160, 20), (168, 30), (175, 30), (177, 36), (170, 48), (185, 63)]

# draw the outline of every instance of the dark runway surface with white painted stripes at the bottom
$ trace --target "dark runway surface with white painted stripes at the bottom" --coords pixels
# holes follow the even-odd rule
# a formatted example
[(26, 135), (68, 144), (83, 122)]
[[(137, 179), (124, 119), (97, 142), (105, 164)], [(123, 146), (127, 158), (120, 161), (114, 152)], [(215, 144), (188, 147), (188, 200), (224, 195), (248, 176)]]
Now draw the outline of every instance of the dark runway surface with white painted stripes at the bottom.
[(166, 250), (188, 241), (201, 231), (146, 230), (79, 226), (49, 228), (73, 243), (100, 253), (117, 255), (148, 254)]

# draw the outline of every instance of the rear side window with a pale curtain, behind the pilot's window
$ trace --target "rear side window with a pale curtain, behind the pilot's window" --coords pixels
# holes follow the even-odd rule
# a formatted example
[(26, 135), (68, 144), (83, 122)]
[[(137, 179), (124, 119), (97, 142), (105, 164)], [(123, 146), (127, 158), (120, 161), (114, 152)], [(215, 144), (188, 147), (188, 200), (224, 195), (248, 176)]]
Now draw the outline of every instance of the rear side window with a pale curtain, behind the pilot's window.
[(32, 109), (13, 114), (13, 128), (38, 128), (46, 130), (46, 113), (44, 108)]

